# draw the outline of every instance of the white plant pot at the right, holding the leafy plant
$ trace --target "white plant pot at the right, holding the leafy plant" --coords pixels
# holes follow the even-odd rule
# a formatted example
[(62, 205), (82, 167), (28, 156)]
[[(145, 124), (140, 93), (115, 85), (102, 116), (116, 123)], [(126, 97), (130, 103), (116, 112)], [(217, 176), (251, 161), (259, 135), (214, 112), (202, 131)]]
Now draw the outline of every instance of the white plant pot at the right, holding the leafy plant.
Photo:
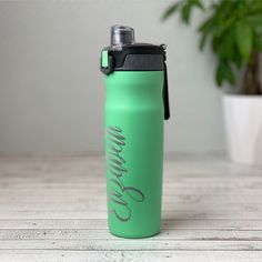
[(262, 97), (224, 94), (223, 113), (231, 160), (262, 165)]

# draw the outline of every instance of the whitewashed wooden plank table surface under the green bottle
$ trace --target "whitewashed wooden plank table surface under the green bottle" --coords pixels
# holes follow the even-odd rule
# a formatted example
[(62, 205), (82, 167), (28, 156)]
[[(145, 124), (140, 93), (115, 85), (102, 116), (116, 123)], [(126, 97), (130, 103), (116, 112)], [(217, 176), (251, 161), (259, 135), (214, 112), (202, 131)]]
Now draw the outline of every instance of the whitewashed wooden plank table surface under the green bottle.
[(103, 158), (0, 158), (0, 261), (262, 261), (262, 169), (165, 160), (161, 233), (108, 232)]

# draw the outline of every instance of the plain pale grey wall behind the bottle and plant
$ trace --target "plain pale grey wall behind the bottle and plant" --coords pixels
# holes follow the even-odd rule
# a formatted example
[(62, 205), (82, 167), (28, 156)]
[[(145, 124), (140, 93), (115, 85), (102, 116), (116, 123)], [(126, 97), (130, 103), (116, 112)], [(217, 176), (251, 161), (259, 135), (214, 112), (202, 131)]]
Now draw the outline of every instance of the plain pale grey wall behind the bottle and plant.
[[(221, 93), (213, 57), (164, 0), (1, 1), (0, 152), (82, 153), (103, 149), (102, 47), (111, 24), (167, 43), (171, 119), (165, 151), (221, 150)], [(198, 20), (194, 18), (193, 22)]]

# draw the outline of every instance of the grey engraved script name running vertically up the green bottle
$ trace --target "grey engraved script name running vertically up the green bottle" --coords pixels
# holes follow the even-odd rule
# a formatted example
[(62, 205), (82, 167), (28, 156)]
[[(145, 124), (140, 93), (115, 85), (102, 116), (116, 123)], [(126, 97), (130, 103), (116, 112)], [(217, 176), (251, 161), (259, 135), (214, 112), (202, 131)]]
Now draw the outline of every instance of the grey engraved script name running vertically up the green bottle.
[(143, 202), (144, 194), (132, 185), (123, 183), (123, 178), (128, 174), (125, 168), (127, 161), (122, 157), (125, 145), (125, 138), (119, 127), (109, 127), (107, 129), (107, 169), (108, 177), (108, 201), (111, 202), (109, 212), (122, 222), (127, 222), (132, 216), (129, 200)]

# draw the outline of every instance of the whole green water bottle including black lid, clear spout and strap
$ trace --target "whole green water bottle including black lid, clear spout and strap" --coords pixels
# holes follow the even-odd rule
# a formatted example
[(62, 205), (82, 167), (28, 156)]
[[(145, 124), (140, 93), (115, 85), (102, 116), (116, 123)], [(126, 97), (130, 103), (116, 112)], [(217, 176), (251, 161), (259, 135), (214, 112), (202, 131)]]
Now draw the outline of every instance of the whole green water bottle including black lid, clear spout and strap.
[(132, 28), (111, 28), (102, 50), (105, 74), (108, 221), (112, 234), (160, 231), (163, 121), (169, 119), (165, 46), (137, 43)]

